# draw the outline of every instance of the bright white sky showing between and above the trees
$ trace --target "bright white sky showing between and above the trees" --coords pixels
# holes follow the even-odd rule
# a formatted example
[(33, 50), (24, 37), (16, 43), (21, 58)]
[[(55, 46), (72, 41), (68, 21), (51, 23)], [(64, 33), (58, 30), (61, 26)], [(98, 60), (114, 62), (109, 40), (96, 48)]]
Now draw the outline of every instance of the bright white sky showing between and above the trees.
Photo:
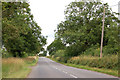
[[(42, 35), (48, 36), (47, 45), (54, 41), (54, 30), (57, 25), (64, 21), (64, 11), (66, 6), (75, 0), (29, 0), (31, 13), (34, 20), (42, 29)], [(118, 4), (120, 0), (102, 0), (108, 3), (114, 12), (118, 12)]]

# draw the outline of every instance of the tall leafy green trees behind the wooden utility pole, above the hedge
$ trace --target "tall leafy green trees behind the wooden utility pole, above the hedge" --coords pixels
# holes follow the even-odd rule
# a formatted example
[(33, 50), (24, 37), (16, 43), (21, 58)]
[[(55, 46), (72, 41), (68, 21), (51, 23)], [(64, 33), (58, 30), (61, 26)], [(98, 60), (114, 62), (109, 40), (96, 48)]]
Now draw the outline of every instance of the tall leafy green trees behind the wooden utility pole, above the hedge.
[[(99, 56), (103, 20), (103, 8), (105, 6), (105, 29), (103, 41), (103, 53), (117, 54), (118, 47), (118, 23), (120, 22), (112, 12), (109, 5), (101, 2), (72, 2), (65, 10), (65, 21), (57, 26), (56, 39), (48, 51), (56, 54), (60, 46), (59, 39), (64, 45), (63, 50), (67, 57), (81, 54)], [(55, 44), (56, 43), (56, 44)], [(56, 54), (57, 55), (57, 54)]]

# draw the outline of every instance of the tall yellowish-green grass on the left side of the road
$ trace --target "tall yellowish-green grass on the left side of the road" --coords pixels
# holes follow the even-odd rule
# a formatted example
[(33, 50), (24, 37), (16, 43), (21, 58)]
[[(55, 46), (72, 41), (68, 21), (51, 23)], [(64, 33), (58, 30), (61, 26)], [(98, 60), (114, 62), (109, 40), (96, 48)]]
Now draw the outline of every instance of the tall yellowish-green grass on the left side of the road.
[(3, 58), (2, 78), (26, 78), (31, 72), (30, 66), (38, 62), (36, 57)]

